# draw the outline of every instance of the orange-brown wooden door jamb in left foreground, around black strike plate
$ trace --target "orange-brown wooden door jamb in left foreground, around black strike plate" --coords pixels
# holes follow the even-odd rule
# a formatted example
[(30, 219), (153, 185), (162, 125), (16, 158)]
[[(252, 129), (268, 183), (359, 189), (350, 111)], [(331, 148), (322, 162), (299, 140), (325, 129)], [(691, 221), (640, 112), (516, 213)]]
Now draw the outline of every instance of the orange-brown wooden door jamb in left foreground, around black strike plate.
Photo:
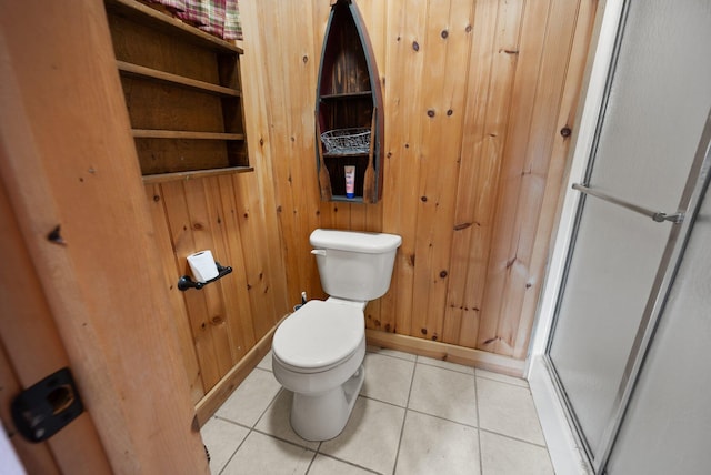
[(86, 407), (24, 466), (208, 473), (101, 0), (0, 2), (0, 416), (66, 365)]

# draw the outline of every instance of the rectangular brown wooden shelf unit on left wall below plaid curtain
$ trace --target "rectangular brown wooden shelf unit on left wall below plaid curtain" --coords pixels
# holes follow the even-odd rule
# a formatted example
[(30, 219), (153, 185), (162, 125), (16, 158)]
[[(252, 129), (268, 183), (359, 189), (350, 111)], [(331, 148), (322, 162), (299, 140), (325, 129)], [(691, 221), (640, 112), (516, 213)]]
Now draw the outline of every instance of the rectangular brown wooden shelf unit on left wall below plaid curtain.
[(242, 49), (134, 0), (104, 0), (144, 183), (252, 171)]

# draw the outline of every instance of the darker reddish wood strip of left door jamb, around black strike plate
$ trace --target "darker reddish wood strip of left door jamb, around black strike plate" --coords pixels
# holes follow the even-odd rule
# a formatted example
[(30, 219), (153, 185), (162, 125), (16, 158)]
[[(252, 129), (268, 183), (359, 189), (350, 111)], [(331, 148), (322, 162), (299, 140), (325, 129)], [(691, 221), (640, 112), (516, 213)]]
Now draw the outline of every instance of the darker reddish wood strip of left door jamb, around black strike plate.
[[(0, 158), (7, 159), (2, 152)], [(0, 189), (0, 420), (30, 474), (109, 473), (94, 422), (84, 412), (47, 442), (26, 441), (10, 416), (12, 400), (70, 365), (4, 188)], [(82, 443), (81, 454), (74, 444)]]

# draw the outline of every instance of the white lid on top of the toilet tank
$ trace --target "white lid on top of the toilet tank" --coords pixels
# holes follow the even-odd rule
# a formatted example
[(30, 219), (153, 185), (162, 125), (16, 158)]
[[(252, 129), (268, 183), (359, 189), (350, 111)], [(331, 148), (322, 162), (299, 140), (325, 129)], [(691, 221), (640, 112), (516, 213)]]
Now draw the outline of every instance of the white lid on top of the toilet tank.
[(397, 234), (321, 229), (314, 230), (309, 241), (314, 247), (367, 254), (382, 254), (402, 244), (402, 238)]

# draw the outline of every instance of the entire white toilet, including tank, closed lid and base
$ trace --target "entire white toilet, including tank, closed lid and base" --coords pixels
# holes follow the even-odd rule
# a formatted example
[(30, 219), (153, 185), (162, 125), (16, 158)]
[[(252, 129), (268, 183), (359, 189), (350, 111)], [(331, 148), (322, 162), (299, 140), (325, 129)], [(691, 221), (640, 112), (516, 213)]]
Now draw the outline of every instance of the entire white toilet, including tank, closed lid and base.
[(316, 230), (310, 242), (330, 297), (307, 302), (279, 325), (272, 367), (277, 381), (293, 392), (294, 432), (307, 441), (328, 441), (346, 427), (363, 385), (363, 311), (388, 292), (402, 238)]

